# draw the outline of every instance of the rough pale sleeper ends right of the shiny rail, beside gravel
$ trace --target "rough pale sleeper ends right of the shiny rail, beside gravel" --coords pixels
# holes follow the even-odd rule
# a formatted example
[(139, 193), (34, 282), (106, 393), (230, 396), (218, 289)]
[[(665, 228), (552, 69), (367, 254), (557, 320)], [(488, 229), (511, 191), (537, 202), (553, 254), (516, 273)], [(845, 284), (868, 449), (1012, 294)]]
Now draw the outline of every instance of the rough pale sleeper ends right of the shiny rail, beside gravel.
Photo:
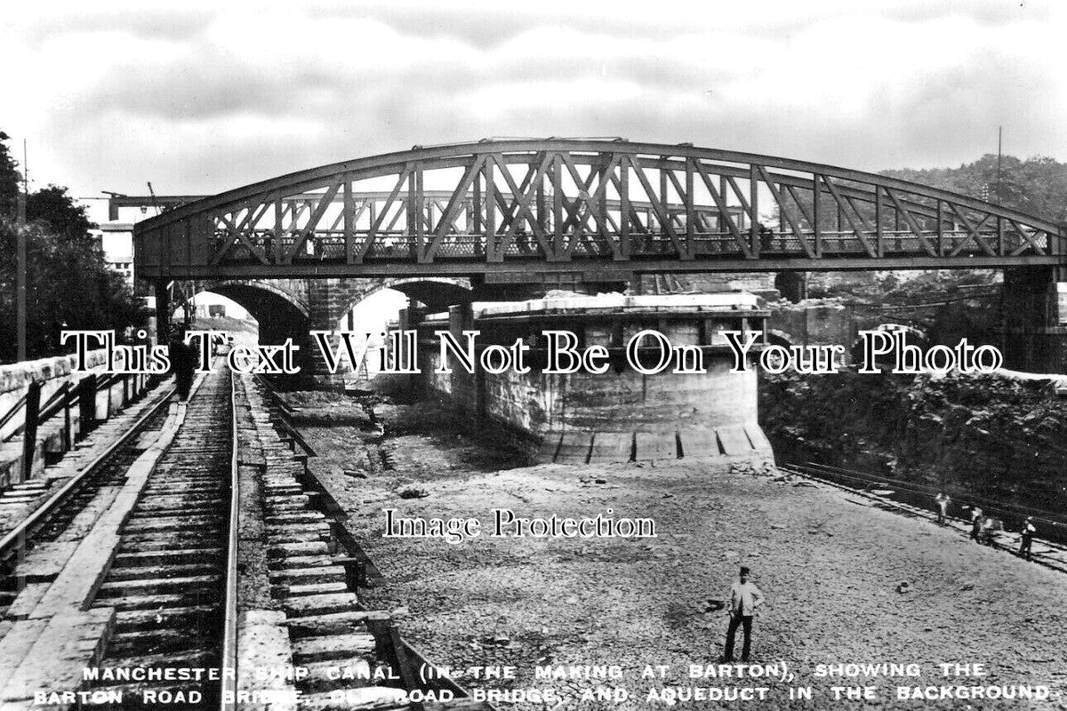
[[(271, 601), (287, 631), (283, 657), (304, 672), (293, 679), (302, 708), (493, 711), (449, 679), (425, 679), (425, 658), (399, 635), (387, 611), (367, 610), (357, 588), (373, 568), (344, 527), (344, 514), (307, 470), (306, 447), (261, 381), (242, 378), (261, 467), (261, 515)], [(309, 450), (307, 450), (309, 451)], [(254, 583), (254, 578), (249, 580)], [(425, 679), (425, 680), (424, 680)]]

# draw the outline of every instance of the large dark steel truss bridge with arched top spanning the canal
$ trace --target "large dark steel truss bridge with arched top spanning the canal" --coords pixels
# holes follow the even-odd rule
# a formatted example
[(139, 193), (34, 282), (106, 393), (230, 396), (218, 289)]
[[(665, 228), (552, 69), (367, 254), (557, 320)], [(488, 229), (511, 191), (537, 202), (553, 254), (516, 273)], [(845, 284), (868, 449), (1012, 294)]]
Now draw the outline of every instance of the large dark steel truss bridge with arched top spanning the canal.
[(1064, 226), (872, 173), (624, 140), (416, 146), (134, 228), (141, 278), (1063, 266)]

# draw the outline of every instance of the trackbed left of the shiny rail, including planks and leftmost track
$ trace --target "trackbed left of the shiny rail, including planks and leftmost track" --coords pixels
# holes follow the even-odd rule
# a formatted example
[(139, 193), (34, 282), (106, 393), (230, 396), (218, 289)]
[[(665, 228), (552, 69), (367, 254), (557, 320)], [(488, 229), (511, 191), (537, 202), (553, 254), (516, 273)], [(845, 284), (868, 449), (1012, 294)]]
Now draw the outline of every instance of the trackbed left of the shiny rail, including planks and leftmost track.
[(160, 403), (5, 538), (0, 708), (218, 702), (230, 400), (219, 372)]

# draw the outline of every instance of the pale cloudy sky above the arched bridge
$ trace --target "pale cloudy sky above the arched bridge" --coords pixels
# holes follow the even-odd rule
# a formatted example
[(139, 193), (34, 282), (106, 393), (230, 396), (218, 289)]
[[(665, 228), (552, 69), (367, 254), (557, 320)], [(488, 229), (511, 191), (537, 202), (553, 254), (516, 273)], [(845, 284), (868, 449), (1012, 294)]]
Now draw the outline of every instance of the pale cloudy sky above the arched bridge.
[(38, 185), (214, 193), (413, 144), (601, 136), (847, 167), (1067, 160), (1067, 3), (19, 2)]

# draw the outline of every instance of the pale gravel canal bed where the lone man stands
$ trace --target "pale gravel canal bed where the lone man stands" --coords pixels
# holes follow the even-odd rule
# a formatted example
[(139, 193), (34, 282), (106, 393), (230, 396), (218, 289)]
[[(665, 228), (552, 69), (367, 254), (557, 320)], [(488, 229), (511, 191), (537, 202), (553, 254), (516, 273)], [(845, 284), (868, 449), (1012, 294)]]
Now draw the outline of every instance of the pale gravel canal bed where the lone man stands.
[[(313, 469), (386, 579), (367, 602), (393, 610), (402, 634), (463, 672), (464, 685), (527, 696), (500, 709), (1067, 708), (1067, 578), (956, 532), (784, 480), (761, 463), (510, 468), (523, 452), (472, 440), (430, 404), (379, 405), (383, 435), (351, 401), (292, 401), (307, 407), (297, 422), (320, 454)], [(383, 538), (383, 507), (473, 517), (484, 528), (493, 508), (574, 518), (611, 508), (654, 519), (658, 537)], [(706, 610), (727, 597), (738, 565), (752, 568), (767, 598), (752, 661), (784, 667), (789, 682), (736, 678), (736, 669), (734, 678), (689, 678), (690, 665), (719, 661), (727, 618)], [(815, 676), (816, 665), (835, 663), (918, 664), (922, 676)], [(983, 664), (986, 676), (944, 677), (941, 663)], [(537, 665), (587, 664), (617, 665), (621, 678), (535, 678)], [(514, 667), (515, 678), (476, 679), (469, 668), (493, 665)], [(663, 678), (656, 665), (667, 667)], [(896, 698), (898, 685), (1019, 684), (1046, 684), (1051, 698)], [(811, 686), (813, 698), (790, 700), (790, 686)], [(877, 699), (835, 701), (834, 686), (873, 686)], [(582, 698), (598, 688), (628, 697)], [(663, 688), (769, 691), (732, 704), (649, 698)], [(531, 689), (554, 696), (530, 700)]]

